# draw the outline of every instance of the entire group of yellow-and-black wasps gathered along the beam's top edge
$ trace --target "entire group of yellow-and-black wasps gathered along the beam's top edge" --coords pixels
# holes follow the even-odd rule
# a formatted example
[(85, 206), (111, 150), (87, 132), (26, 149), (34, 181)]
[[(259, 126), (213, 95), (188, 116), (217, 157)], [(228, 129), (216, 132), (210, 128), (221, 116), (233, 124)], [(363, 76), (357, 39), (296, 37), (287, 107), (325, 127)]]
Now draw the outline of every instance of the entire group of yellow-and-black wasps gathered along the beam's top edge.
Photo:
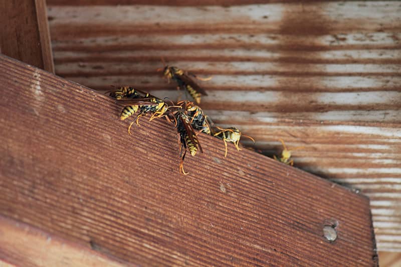
[[(128, 127), (129, 134), (131, 134), (132, 125), (134, 123), (139, 125), (139, 118), (147, 114), (151, 115), (149, 121), (164, 117), (168, 122), (174, 123), (175, 128), (177, 129), (180, 148), (179, 170), (184, 175), (188, 174), (183, 168), (183, 161), (186, 152), (189, 151), (191, 156), (195, 156), (198, 150), (203, 152), (196, 137), (195, 130), (222, 139), (225, 144), (225, 157), (227, 157), (227, 142), (234, 143), (237, 150), (241, 150), (239, 147), (241, 136), (248, 137), (255, 142), (252, 137), (243, 135), (240, 130), (235, 127), (223, 129), (216, 126), (198, 106), (200, 103), (200, 97), (202, 95), (207, 95), (207, 93), (194, 82), (193, 78), (199, 80), (209, 80), (211, 78), (198, 78), (177, 67), (170, 67), (168, 65), (160, 70), (163, 70), (163, 74), (168, 82), (170, 79), (176, 82), (177, 89), (183, 89), (188, 93), (193, 98), (193, 102), (179, 101), (174, 105), (170, 101), (171, 105), (168, 105), (166, 101), (152, 96), (149, 93), (132, 87), (120, 87), (110, 93), (110, 97), (124, 105), (120, 119), (125, 120), (137, 113), (136, 118)], [(283, 153), (280, 157), (275, 156), (275, 159), (285, 164), (292, 165), (293, 162), (289, 160), (291, 157), (291, 151), (287, 150), (283, 141), (282, 143), (284, 146)]]

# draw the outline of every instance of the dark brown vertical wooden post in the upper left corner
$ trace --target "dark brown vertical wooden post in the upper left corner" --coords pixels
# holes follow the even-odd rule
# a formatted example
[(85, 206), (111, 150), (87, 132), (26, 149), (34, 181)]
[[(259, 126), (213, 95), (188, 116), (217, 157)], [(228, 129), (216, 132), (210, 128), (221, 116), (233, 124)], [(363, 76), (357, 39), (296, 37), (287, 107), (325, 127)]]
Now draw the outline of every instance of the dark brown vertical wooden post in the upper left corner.
[(1, 1), (0, 51), (54, 73), (46, 0)]

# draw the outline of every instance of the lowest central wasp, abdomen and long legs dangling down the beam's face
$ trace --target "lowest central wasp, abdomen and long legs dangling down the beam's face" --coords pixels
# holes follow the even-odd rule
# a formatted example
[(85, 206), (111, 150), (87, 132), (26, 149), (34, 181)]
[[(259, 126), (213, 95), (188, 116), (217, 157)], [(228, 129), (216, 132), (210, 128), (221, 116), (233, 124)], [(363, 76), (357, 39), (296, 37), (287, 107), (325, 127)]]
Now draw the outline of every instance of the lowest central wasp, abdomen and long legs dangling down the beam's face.
[[(202, 153), (203, 150), (190, 124), (189, 117), (181, 111), (176, 112), (175, 116), (177, 121), (177, 133), (179, 136), (179, 157), (181, 158), (179, 170), (182, 174), (187, 175), (188, 173), (184, 171), (183, 167), (186, 151), (188, 150), (191, 156), (194, 156), (198, 150)], [(183, 153), (182, 150), (184, 150)]]

